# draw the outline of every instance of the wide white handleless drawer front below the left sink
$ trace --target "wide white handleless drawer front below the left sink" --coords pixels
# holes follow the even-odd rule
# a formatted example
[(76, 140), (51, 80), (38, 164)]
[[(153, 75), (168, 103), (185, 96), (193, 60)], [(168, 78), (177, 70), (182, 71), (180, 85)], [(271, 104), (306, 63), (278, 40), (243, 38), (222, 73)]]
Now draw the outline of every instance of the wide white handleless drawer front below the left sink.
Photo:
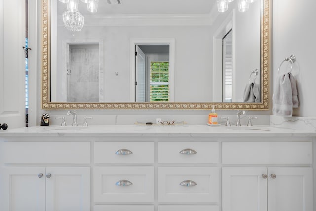
[(4, 142), (4, 163), (87, 164), (89, 142)]

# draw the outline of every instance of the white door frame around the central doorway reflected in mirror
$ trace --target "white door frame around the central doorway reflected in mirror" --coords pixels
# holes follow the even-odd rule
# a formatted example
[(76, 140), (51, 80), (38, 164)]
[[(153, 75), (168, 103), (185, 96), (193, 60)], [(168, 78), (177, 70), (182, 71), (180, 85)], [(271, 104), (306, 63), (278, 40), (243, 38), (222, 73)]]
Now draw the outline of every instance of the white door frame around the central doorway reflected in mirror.
[(170, 81), (170, 100), (174, 102), (175, 87), (175, 39), (174, 38), (131, 38), (129, 47), (130, 63), (130, 101), (135, 102), (135, 79), (136, 79), (136, 62), (135, 46), (136, 45), (169, 45), (169, 81)]

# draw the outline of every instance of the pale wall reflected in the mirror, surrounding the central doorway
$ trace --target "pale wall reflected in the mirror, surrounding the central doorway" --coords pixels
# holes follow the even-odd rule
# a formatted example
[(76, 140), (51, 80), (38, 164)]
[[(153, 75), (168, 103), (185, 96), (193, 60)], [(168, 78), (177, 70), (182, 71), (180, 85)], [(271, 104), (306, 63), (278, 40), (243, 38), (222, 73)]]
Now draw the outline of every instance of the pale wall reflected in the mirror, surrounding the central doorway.
[[(129, 42), (131, 38), (175, 38), (175, 101), (211, 102), (212, 36), (210, 26), (83, 27), (75, 34), (58, 27), (57, 61), (63, 60), (61, 40), (103, 40), (104, 101), (130, 101)], [(54, 61), (52, 61), (54, 62)], [(57, 62), (57, 70), (62, 69)], [(118, 72), (118, 76), (115, 75)], [(61, 81), (61, 80), (57, 80)], [(189, 95), (188, 95), (189, 93)]]

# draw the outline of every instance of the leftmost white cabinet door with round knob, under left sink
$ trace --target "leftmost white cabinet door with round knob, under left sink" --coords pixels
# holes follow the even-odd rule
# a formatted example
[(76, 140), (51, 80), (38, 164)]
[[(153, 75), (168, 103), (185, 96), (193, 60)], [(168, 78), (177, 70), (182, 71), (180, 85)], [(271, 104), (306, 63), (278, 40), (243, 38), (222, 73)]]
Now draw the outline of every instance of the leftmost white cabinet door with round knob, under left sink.
[(5, 167), (1, 184), (1, 211), (45, 210), (45, 167)]

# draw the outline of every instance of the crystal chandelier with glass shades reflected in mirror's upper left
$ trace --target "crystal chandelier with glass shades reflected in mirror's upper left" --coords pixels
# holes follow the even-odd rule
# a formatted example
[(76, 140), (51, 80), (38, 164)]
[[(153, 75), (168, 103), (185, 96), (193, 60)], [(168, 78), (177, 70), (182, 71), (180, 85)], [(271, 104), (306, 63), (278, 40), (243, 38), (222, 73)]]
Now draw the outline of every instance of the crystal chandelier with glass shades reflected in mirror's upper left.
[[(59, 0), (67, 4), (67, 11), (63, 12), (63, 22), (66, 29), (79, 32), (84, 25), (84, 16), (78, 11), (79, 0)], [(99, 0), (80, 0), (87, 4), (89, 12), (97, 12)]]

